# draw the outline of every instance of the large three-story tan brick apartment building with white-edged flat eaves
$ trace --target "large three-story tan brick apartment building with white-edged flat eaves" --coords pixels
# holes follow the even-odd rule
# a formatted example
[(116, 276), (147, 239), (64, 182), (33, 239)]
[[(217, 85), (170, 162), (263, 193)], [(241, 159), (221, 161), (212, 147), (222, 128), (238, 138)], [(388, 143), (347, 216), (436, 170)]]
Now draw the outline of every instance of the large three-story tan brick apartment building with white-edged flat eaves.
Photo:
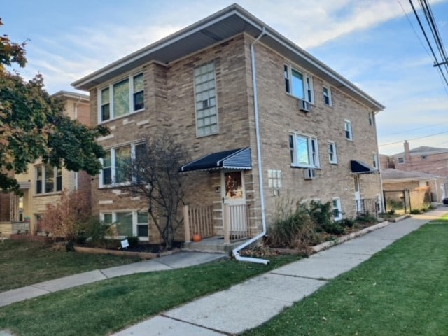
[(90, 92), (92, 124), (111, 129), (98, 139), (108, 154), (92, 211), (121, 236), (160, 241), (148, 204), (120, 189), (120, 159), (160, 132), (187, 148), (186, 201), (207, 206), (211, 225), (191, 233), (203, 237), (225, 233), (228, 204), (230, 230), (252, 236), (288, 197), (331, 202), (336, 219), (365, 200), (381, 204), (375, 114), (384, 106), (236, 4), (73, 86)]

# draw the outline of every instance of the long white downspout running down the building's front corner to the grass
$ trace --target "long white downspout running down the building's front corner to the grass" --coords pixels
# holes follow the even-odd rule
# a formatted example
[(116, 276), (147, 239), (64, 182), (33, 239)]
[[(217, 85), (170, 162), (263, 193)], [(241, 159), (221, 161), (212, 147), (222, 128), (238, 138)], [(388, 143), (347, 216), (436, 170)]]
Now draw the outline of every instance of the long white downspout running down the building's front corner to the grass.
[(264, 235), (266, 235), (266, 216), (265, 216), (265, 193), (263, 189), (263, 169), (262, 169), (262, 159), (261, 159), (261, 141), (260, 141), (260, 123), (258, 118), (258, 92), (257, 92), (257, 69), (255, 66), (255, 48), (254, 45), (263, 35), (266, 34), (265, 27), (262, 27), (261, 34), (253, 41), (251, 44), (251, 62), (252, 62), (252, 83), (253, 83), (253, 108), (255, 110), (255, 135), (257, 139), (257, 156), (258, 156), (258, 183), (260, 183), (260, 200), (261, 200), (261, 222), (262, 222), (262, 232), (260, 235), (249, 239), (244, 244), (238, 246), (232, 251), (232, 254), (235, 256), (235, 259), (239, 261), (248, 261), (248, 262), (256, 262), (258, 264), (267, 265), (269, 260), (259, 259), (259, 258), (251, 258), (251, 257), (241, 257), (238, 251), (245, 248), (246, 246), (252, 244), (254, 241), (257, 241)]

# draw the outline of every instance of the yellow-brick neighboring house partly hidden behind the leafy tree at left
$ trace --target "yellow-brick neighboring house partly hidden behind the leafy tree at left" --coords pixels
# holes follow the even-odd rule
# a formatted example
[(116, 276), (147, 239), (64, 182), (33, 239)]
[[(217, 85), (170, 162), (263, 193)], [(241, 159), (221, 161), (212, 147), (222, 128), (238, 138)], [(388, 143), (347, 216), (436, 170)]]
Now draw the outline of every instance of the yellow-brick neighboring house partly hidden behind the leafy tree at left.
[[(53, 94), (64, 100), (64, 113), (80, 123), (90, 123), (89, 97), (85, 94), (60, 91)], [(22, 197), (12, 195), (15, 206), (13, 221), (29, 221), (30, 230), (36, 230), (36, 223), (45, 213), (47, 204), (59, 202), (62, 190), (84, 190), (90, 196), (91, 176), (85, 172), (69, 172), (63, 168), (44, 165), (41, 160), (28, 166), (27, 173), (15, 178), (20, 183)]]

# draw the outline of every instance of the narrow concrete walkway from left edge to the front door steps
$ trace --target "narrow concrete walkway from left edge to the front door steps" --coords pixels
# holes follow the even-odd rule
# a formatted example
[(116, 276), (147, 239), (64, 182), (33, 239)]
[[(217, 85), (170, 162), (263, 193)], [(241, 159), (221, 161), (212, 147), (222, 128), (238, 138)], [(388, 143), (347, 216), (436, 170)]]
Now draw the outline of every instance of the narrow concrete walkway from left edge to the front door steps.
[(153, 260), (145, 260), (123, 266), (97, 269), (90, 272), (74, 274), (71, 276), (65, 276), (64, 278), (36, 283), (31, 286), (0, 293), (0, 307), (14, 302), (20, 302), (37, 296), (57, 292), (59, 290), (85, 285), (86, 283), (115, 278), (116, 276), (190, 267), (215, 261), (221, 258), (227, 258), (227, 255), (216, 253), (180, 252)]

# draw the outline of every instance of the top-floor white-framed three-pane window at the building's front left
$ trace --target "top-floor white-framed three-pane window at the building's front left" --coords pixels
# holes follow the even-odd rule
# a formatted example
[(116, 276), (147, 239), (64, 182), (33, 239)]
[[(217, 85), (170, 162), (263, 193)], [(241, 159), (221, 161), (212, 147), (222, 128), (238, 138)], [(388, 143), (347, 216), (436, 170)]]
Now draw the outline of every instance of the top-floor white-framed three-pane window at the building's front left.
[(102, 88), (99, 94), (99, 122), (125, 116), (144, 108), (143, 73), (110, 84)]

